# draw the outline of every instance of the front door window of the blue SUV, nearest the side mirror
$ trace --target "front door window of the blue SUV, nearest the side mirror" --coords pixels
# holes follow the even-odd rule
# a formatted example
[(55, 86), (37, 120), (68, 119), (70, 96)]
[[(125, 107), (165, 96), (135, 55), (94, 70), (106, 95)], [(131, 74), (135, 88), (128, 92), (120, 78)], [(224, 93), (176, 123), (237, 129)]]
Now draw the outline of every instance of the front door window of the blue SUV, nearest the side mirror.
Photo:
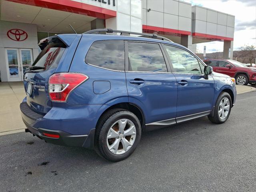
[(174, 73), (202, 74), (197, 58), (186, 50), (164, 45), (170, 57)]

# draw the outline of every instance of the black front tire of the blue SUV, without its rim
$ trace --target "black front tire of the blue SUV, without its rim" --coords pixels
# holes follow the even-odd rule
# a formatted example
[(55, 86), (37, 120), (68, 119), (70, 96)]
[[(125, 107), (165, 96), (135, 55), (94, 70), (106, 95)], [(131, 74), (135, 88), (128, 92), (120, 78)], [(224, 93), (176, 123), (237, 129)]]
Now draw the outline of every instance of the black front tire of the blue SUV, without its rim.
[[(230, 108), (229, 108), (229, 112), (228, 112), (228, 115), (226, 116), (226, 118), (224, 119), (221, 119), (219, 117), (219, 114), (218, 114), (218, 110), (219, 110), (219, 105), (220, 105), (220, 102), (223, 98), (228, 98), (229, 100), (229, 103), (230, 103)], [(216, 124), (222, 124), (224, 123), (229, 115), (230, 115), (230, 112), (231, 112), (231, 108), (232, 108), (232, 100), (231, 100), (231, 97), (230, 95), (227, 93), (227, 92), (222, 92), (219, 96), (218, 96), (218, 99), (216, 101), (216, 104), (215, 104), (215, 108), (214, 108), (214, 112), (213, 112), (213, 116), (212, 115), (208, 115), (208, 119), (213, 122), (213, 123), (216, 123)]]

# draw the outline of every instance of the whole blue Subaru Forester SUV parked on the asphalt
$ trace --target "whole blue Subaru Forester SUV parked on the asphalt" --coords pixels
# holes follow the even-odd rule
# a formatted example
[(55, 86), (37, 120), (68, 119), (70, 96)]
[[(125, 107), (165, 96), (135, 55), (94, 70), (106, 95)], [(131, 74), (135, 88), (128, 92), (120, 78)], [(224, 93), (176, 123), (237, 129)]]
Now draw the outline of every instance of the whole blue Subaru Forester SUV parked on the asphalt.
[(156, 34), (91, 30), (38, 45), (24, 73), (25, 131), (110, 161), (130, 156), (144, 130), (202, 116), (223, 123), (236, 101), (233, 78)]

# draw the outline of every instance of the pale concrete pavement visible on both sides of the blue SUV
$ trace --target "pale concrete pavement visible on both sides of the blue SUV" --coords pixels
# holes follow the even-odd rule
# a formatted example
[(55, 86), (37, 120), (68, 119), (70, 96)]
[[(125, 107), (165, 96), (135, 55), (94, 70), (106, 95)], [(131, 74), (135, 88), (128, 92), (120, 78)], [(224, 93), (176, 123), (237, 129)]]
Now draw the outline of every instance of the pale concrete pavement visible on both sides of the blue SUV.
[[(252, 86), (236, 88), (237, 94), (256, 91)], [(23, 82), (0, 82), (0, 136), (23, 132), (26, 128), (20, 115), (20, 103), (25, 96)]]

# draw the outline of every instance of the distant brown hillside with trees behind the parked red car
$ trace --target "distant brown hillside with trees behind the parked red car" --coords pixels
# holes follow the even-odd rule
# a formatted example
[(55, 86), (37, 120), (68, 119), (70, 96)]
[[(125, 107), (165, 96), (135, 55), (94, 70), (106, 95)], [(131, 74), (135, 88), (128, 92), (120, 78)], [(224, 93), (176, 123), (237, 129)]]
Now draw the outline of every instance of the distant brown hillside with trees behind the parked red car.
[[(233, 52), (233, 60), (237, 60), (241, 63), (250, 63), (248, 59), (248, 52), (249, 51), (234, 51)], [(253, 51), (254, 58), (256, 57), (256, 50)], [(196, 54), (201, 59), (204, 59), (204, 54), (198, 53)], [(214, 53), (206, 53), (206, 58), (211, 59), (223, 59), (223, 52), (214, 52)], [(255, 60), (252, 61), (255, 63)]]

